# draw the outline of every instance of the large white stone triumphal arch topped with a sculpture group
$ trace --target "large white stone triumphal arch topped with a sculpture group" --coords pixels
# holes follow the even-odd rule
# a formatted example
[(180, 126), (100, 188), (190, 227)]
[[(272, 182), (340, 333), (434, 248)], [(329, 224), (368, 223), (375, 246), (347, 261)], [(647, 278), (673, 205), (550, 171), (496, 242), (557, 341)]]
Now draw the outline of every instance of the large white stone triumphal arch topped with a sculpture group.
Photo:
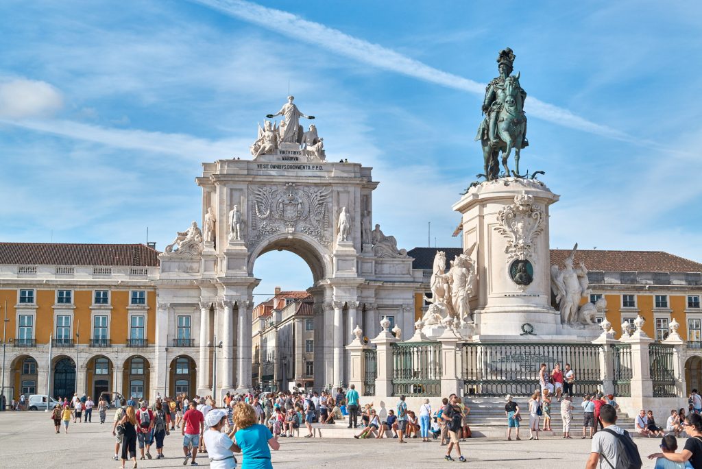
[(267, 118), (249, 155), (203, 164), (200, 223), (160, 256), (159, 315), (197, 308), (201, 393), (211, 389), (220, 342), (218, 393), (251, 389), (253, 266), (268, 251), (296, 253), (312, 270), (315, 388), (347, 383), (356, 325), (373, 337), (388, 316), (413, 330), (421, 279), (395, 237), (373, 224), (371, 168), (326, 154), (316, 126), (300, 124), (314, 117), (293, 97)]

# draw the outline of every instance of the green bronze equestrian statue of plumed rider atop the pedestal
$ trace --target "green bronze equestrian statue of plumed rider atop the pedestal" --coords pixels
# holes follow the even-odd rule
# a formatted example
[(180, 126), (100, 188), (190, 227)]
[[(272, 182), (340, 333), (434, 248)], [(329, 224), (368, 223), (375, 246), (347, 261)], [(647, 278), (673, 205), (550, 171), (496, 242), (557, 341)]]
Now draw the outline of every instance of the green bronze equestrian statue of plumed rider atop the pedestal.
[[(519, 73), (512, 75), (515, 54), (505, 48), (498, 55), (500, 76), (485, 88), (482, 112), (485, 118), (478, 127), (475, 140), (480, 140), (483, 149), (483, 176), (487, 180), (500, 177), (500, 162), (505, 176), (519, 177), (519, 152), (527, 147), (527, 117), (524, 115), (524, 100), (527, 92), (519, 85)], [(515, 150), (515, 171), (510, 172), (507, 160)]]

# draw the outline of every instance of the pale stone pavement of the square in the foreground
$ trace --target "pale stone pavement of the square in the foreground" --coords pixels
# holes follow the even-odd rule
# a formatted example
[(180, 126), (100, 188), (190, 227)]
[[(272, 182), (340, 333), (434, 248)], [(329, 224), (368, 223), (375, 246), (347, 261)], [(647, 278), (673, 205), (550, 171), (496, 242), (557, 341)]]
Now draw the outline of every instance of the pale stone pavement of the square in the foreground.
[[(108, 414), (111, 421), (112, 412)], [(112, 468), (114, 438), (112, 425), (71, 423), (69, 433), (56, 435), (53, 423), (44, 412), (0, 413), (0, 467), (2, 468)], [(178, 431), (178, 430), (177, 430)], [(301, 435), (304, 431), (300, 432)], [(680, 446), (684, 440), (678, 440)], [(658, 451), (658, 439), (637, 438), (642, 455)], [(182, 468), (182, 439), (180, 432), (166, 437), (160, 461), (139, 461), (139, 468)], [(521, 442), (506, 442), (476, 438), (463, 443), (468, 464), (461, 467), (490, 468), (583, 468), (590, 453), (590, 440), (561, 440), (560, 438)], [(286, 468), (434, 468), (448, 465), (443, 460), (445, 447), (436, 442), (410, 440), (306, 439), (282, 438), (280, 451), (273, 454), (273, 467)], [(152, 451), (156, 454), (156, 451)], [(198, 456), (201, 466), (206, 458)], [(458, 464), (458, 463), (455, 463)], [(131, 467), (131, 465), (127, 465)], [(653, 461), (644, 461), (644, 468), (653, 468)]]

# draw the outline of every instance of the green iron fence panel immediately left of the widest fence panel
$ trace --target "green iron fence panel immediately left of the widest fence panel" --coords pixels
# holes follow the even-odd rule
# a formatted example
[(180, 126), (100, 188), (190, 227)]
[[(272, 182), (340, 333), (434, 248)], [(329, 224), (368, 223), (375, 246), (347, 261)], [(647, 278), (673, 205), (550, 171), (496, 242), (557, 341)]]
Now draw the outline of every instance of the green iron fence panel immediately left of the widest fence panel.
[(392, 364), (392, 395), (441, 395), (441, 343), (393, 343)]

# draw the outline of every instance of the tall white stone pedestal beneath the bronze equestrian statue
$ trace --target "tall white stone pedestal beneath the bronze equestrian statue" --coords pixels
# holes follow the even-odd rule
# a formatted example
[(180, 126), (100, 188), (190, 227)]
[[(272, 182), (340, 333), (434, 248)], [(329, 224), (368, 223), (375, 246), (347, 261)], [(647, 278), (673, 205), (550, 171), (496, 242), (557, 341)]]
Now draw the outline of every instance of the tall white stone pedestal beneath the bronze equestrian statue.
[(501, 178), (471, 187), (461, 212), (463, 249), (472, 254), (477, 289), (470, 298), (475, 333), (510, 338), (562, 333), (551, 307), (548, 207), (559, 196), (538, 180)]

